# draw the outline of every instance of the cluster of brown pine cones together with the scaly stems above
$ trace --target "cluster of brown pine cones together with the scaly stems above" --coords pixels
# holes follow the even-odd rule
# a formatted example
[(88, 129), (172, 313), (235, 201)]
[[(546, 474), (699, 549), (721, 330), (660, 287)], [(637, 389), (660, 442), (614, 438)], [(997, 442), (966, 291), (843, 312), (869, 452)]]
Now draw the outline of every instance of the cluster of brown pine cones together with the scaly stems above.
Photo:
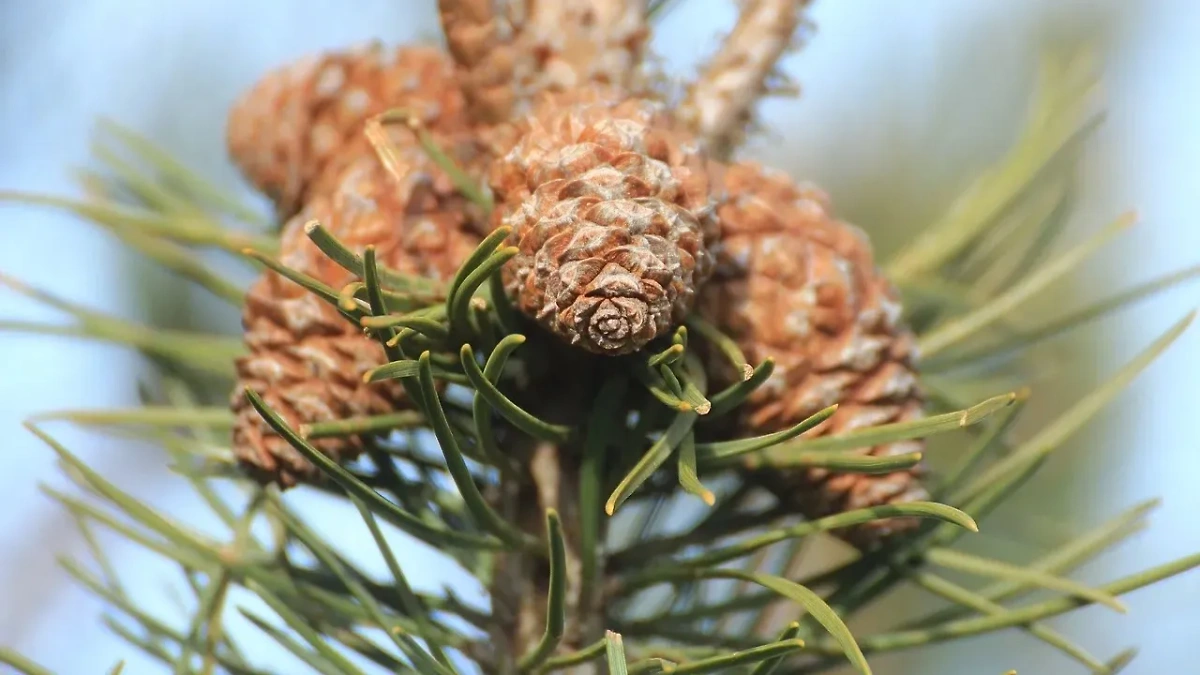
[[(269, 73), (239, 100), (229, 150), (287, 221), (281, 262), (334, 288), (355, 280), (305, 235), (316, 220), (352, 249), (374, 245), (383, 265), (446, 280), (506, 225), (520, 250), (503, 269), (514, 306), (593, 358), (641, 350), (691, 312), (750, 363), (773, 358), (738, 436), (792, 426), (835, 402), (810, 435), (919, 417), (913, 342), (864, 234), (836, 220), (821, 191), (727, 159), (804, 2), (745, 1), (682, 101), (648, 72), (644, 0), (540, 2), (524, 13), (511, 5), (439, 0), (448, 49), (325, 53)], [(408, 127), (389, 131), (398, 160), (384, 168), (364, 129), (394, 108), (490, 187), (492, 213), (456, 191)], [(295, 426), (406, 406), (395, 381), (362, 381), (385, 363), (382, 347), (274, 271), (250, 289), (244, 325), (234, 448), (264, 482), (290, 486), (318, 472), (242, 388)], [(722, 359), (709, 366), (713, 387), (743, 377)], [(355, 438), (316, 444), (338, 460), (361, 448)], [(781, 498), (810, 518), (926, 497), (914, 472), (785, 478)], [(905, 526), (871, 525), (875, 534)]]

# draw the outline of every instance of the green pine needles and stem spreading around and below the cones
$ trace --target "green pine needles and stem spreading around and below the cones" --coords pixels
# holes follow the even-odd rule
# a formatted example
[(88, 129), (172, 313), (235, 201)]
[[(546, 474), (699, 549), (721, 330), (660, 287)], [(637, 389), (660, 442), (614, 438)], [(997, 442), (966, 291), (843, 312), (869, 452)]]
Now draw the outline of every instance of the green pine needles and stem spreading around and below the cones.
[[(634, 5), (612, 7), (624, 11)], [(642, 25), (666, 5), (637, 7), (634, 23)], [(716, 123), (704, 132), (715, 145), (731, 144), (733, 129), (763, 94), (763, 83), (791, 37), (788, 26), (800, 20), (802, 5), (748, 2), (724, 56), (694, 88), (690, 104), (715, 96), (720, 108), (712, 118)], [(479, 66), (479, 54), (468, 54), (464, 41), (473, 37), (468, 29), (497, 19), (493, 7), (442, 2), (440, 8), (444, 23), (457, 26), (451, 48), (458, 65)], [(546, 5), (541, 11), (552, 16), (557, 10)], [(616, 12), (604, 19), (619, 23), (623, 16)], [(751, 29), (764, 17), (780, 19), (779, 25), (756, 34)], [(508, 37), (484, 38), (480, 44), (512, 44)], [(622, 49), (632, 54), (641, 47)], [(727, 78), (718, 71), (728, 74), (738, 60), (733, 56), (742, 59), (734, 64), (738, 73)], [(312, 222), (302, 232), (306, 243), (352, 279), (326, 283), (288, 267), (289, 258), (274, 237), (239, 231), (238, 222), (254, 220), (252, 209), (114, 127), (113, 141), (95, 150), (103, 171), (83, 174), (86, 199), (0, 197), (71, 209), (234, 304), (241, 304), (238, 286), (204, 264), (198, 250), (235, 252), (259, 262), (335, 307), (360, 330), (385, 359), (365, 369), (364, 381), (403, 389), (412, 407), (292, 424), (260, 393), (238, 392), (288, 452), (314, 467), (319, 479), (310, 485), (313, 492), (359, 513), (370, 534), (361, 540), (374, 544), (371, 555), (377, 554), (386, 569), (374, 578), (365, 563), (338, 552), (337, 542), (307, 526), (293, 509), (290, 495), (281, 497), (240, 468), (226, 437), (234, 416), (203, 402), (208, 399), (197, 394), (196, 382), (176, 375), (190, 369), (228, 381), (234, 359), (244, 352), (240, 344), (216, 333), (138, 325), (4, 279), (11, 289), (74, 322), (65, 327), (10, 322), (5, 328), (132, 346), (154, 357), (166, 375), (164, 394), (144, 394), (139, 407), (49, 412), (26, 424), (79, 492), (43, 486), (77, 522), (96, 572), (78, 561), (62, 565), (120, 615), (120, 621), (106, 616), (106, 626), (176, 673), (194, 671), (197, 662), (205, 674), (270, 671), (248, 665), (258, 659), (242, 653), (245, 645), (230, 635), (233, 625), (227, 620), (234, 611), (312, 671), (334, 675), (365, 673), (368, 667), (434, 675), (468, 668), (548, 674), (599, 668), (601, 662), (617, 674), (738, 669), (766, 675), (810, 673), (847, 662), (870, 673), (872, 653), (1007, 628), (1020, 628), (1093, 673), (1116, 673), (1135, 651), (1100, 661), (1044, 621), (1090, 604), (1123, 610), (1120, 596), (1200, 565), (1200, 557), (1188, 556), (1102, 586), (1068, 577), (1145, 527), (1152, 503), (1022, 562), (989, 560), (956, 548), (965, 532), (979, 530), (977, 522), (983, 524), (978, 536), (988, 537), (986, 516), (1114, 402), (1193, 319), (1188, 315), (1177, 322), (1049, 424), (1027, 436), (1016, 434), (1022, 412), (1040, 405), (1037, 392), (1020, 377), (1033, 346), (1190, 280), (1196, 271), (1157, 279), (1043, 325), (1013, 316), (1124, 225), (1118, 221), (1063, 256), (1043, 259), (1049, 243), (1061, 234), (1073, 149), (1096, 119), (1088, 102), (1094, 83), (1074, 74), (1070, 67), (1048, 72), (1026, 136), (890, 265), (928, 357), (922, 383), (941, 407), (919, 419), (889, 418), (901, 420), (833, 432), (829, 423), (853, 401), (821, 404), (824, 407), (806, 411), (806, 418), (796, 416), (773, 432), (744, 432), (748, 406), (779, 396), (776, 369), (794, 365), (769, 358), (748, 363), (752, 345), (739, 345), (724, 333), (730, 327), (698, 312), (660, 333), (640, 353), (607, 360), (564, 357), (566, 347), (547, 342), (506, 295), (502, 274), (516, 251), (508, 245), (512, 233), (506, 227), (484, 235), (457, 273), (442, 282), (389, 269), (380, 264), (383, 245), (352, 247), (334, 234), (336, 228)], [(480, 84), (475, 94), (486, 94), (486, 83), (475, 84)], [(455, 166), (427, 130), (413, 131), (413, 142), (462, 195), (473, 197), (476, 207), (494, 205), (490, 195), (478, 191), (479, 175)], [(386, 160), (386, 147), (379, 149)], [(732, 372), (732, 382), (724, 380), (718, 387), (718, 371)], [(990, 398), (971, 393), (1006, 392), (1009, 387), (994, 384), (1009, 381), (1010, 393)], [(158, 444), (181, 489), (199, 497), (226, 532), (202, 533), (190, 519), (134, 497), (52, 437), (44, 430), (49, 423)], [(770, 479), (787, 484), (797, 471), (844, 480), (894, 476), (924, 458), (924, 450), (912, 449), (918, 446), (905, 443), (934, 436), (961, 449), (938, 480), (923, 486), (932, 495), (928, 500), (910, 497), (802, 518), (786, 490), (766, 489)], [(346, 460), (322, 449), (324, 441), (348, 438), (362, 443), (362, 459)], [(863, 452), (893, 444), (900, 450)], [(228, 496), (229, 486), (236, 488), (239, 498)], [(295, 498), (308, 497), (299, 491)], [(917, 525), (874, 548), (854, 550), (842, 565), (820, 572), (797, 565), (800, 543), (900, 518)], [(265, 534), (254, 524), (266, 525)], [(96, 528), (179, 568), (196, 605), (185, 628), (140, 607), (143, 589), (108, 558)], [(397, 533), (461, 565), (488, 591), (488, 602), (467, 602), (451, 589), (414, 589), (404, 568), (408, 549), (391, 538)], [(968, 589), (938, 575), (938, 568), (990, 583)], [(956, 607), (871, 634), (852, 633), (847, 626), (854, 625), (857, 614), (899, 584), (916, 585)], [(1034, 590), (1050, 597), (1014, 602)], [(248, 592), (270, 611), (228, 607), (234, 592)], [(770, 628), (767, 608), (769, 619), (784, 608), (794, 621), (781, 631)], [(0, 663), (46, 673), (7, 651), (0, 651)]]

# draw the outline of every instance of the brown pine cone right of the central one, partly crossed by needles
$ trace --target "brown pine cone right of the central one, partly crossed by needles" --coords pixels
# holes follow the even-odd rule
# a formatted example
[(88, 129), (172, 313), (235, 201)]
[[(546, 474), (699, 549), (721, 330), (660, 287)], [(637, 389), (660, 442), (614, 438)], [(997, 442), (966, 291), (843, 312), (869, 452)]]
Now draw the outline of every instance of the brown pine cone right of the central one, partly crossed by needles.
[[(914, 345), (900, 323), (893, 287), (872, 259), (865, 234), (830, 215), (826, 195), (754, 165), (724, 177), (728, 201), (718, 211), (721, 245), (700, 312), (733, 336), (752, 363), (775, 370), (744, 407), (739, 432), (769, 434), (840, 404), (809, 432), (832, 435), (922, 416)], [(740, 378), (715, 357), (716, 384)], [(718, 363), (724, 365), (716, 365)], [(876, 456), (920, 450), (918, 441), (864, 449)], [(883, 476), (788, 472), (780, 498), (806, 518), (928, 498), (920, 468)], [(914, 525), (888, 519), (839, 531), (870, 548)]]

